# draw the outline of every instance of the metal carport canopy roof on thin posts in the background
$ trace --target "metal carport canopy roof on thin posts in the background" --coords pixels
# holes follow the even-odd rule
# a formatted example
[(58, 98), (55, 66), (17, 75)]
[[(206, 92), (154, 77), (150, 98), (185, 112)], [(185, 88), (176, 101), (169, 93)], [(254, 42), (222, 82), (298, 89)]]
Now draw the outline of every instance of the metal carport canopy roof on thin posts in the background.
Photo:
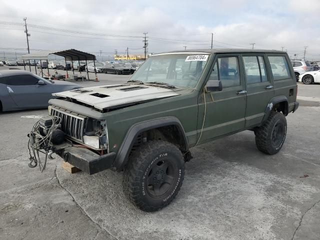
[(46, 60), (49, 54), (65, 57), (66, 60), (96, 60), (95, 55), (76, 49), (67, 50), (41, 50), (22, 55), (23, 60)]

